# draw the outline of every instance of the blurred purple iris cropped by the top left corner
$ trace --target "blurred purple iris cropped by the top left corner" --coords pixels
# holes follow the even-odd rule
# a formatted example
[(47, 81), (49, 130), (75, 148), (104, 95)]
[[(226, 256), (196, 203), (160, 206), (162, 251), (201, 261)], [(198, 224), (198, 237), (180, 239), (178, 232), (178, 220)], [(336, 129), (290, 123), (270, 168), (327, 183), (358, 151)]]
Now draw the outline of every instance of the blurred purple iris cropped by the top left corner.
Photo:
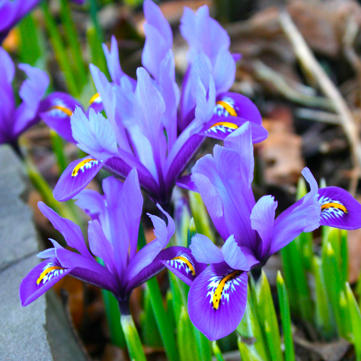
[[(78, 4), (83, 4), (84, 1), (73, 0)], [(0, 44), (11, 28), (39, 3), (40, 0), (0, 0)]]

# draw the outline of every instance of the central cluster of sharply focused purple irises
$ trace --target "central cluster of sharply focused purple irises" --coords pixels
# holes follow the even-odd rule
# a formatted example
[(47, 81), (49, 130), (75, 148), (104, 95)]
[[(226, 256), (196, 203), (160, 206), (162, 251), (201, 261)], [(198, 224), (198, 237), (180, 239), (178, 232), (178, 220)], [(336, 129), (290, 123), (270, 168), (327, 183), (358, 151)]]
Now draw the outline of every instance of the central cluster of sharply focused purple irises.
[[(74, 102), (50, 106), (52, 97), (42, 106), (39, 99), (46, 86), (36, 93), (34, 110), (34, 101), (28, 102), (22, 96), (25, 90), (21, 91), (24, 104), (33, 105), (31, 119), (39, 109), (72, 114), (70, 125), (69, 121), (64, 125), (68, 139), (89, 156), (68, 166), (54, 196), (61, 201), (74, 197), (92, 221), (88, 225), (89, 251), (79, 226), (39, 203), (74, 251), (51, 240), (54, 247), (38, 254), (45, 261), (23, 279), (20, 299), (25, 306), (70, 274), (111, 291), (121, 313), (128, 314), (131, 291), (166, 267), (191, 286), (188, 313), (193, 324), (216, 340), (234, 331), (243, 317), (248, 271), (261, 268), (270, 255), (301, 232), (320, 225), (361, 227), (361, 205), (341, 188), (318, 189), (308, 168), (302, 174), (310, 192), (278, 217), (272, 196), (256, 202), (251, 188), (252, 144), (265, 139), (267, 131), (251, 100), (229, 92), (239, 58), (229, 52), (229, 36), (209, 17), (207, 6), (196, 13), (184, 10), (180, 29), (190, 49), (180, 91), (175, 82), (170, 25), (150, 0), (144, 2), (144, 14), (144, 67), (137, 70), (136, 80), (123, 73), (113, 37), (110, 50), (104, 47), (112, 81), (90, 66), (97, 94), (88, 112)], [(23, 88), (30, 87), (30, 68), (21, 69), (30, 77)], [(12, 72), (5, 72), (5, 78), (9, 83)], [(35, 92), (31, 95), (35, 97)], [(106, 117), (99, 112), (103, 109)], [(213, 155), (202, 157), (191, 175), (181, 177), (207, 136), (223, 140), (223, 146), (216, 145)], [(112, 174), (103, 181), (104, 195), (84, 189), (101, 168)], [(164, 208), (169, 209), (175, 183), (200, 193), (224, 240), (221, 249), (202, 234), (193, 236), (190, 248), (167, 247), (175, 223)], [(140, 188), (157, 202), (164, 219), (149, 215), (156, 238), (138, 249), (143, 206)]]

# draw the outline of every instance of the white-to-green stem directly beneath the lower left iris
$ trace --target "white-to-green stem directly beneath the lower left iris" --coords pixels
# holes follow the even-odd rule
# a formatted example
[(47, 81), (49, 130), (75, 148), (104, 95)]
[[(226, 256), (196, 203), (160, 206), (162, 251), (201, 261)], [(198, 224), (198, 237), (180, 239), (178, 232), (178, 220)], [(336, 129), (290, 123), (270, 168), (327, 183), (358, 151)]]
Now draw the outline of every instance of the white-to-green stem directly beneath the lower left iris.
[(124, 332), (130, 359), (146, 361), (147, 359), (145, 358), (142, 342), (140, 342), (138, 330), (135, 327), (132, 316), (130, 314), (121, 315), (120, 323)]

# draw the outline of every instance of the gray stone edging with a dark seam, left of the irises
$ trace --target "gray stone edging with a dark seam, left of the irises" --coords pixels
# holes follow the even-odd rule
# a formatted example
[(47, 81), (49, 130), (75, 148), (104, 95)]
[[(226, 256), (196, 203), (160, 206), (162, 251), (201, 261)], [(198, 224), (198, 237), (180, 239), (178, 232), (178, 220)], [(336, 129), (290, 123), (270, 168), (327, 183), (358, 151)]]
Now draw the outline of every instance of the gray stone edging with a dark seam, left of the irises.
[(38, 240), (32, 212), (20, 199), (26, 188), (21, 162), (6, 145), (0, 169), (0, 361), (85, 361), (55, 293), (21, 306), (19, 284), (39, 263)]

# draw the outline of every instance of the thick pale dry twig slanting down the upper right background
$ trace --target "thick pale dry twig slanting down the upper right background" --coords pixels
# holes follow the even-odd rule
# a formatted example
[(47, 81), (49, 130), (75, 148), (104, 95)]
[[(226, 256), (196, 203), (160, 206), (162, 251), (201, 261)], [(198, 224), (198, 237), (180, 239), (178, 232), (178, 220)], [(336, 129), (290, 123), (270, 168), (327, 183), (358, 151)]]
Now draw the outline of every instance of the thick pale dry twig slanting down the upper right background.
[(356, 182), (355, 180), (351, 181), (351, 186), (354, 189), (351, 189), (350, 191), (355, 193), (355, 184), (357, 184), (357, 179), (360, 177), (361, 168), (361, 141), (355, 120), (353, 119), (352, 114), (348, 109), (348, 106), (342, 95), (336, 88), (335, 84), (332, 83), (331, 79), (322, 69), (321, 65), (319, 65), (317, 59), (314, 57), (303, 36), (297, 30), (297, 27), (286, 11), (280, 13), (279, 22), (288, 40), (290, 40), (293, 46), (293, 50), (295, 51), (300, 65), (306, 71), (306, 73), (311, 74), (316, 79), (318, 86), (322, 92), (334, 103), (336, 112), (340, 116), (340, 125), (342, 126), (350, 144), (351, 158), (356, 174), (355, 177), (357, 177)]

